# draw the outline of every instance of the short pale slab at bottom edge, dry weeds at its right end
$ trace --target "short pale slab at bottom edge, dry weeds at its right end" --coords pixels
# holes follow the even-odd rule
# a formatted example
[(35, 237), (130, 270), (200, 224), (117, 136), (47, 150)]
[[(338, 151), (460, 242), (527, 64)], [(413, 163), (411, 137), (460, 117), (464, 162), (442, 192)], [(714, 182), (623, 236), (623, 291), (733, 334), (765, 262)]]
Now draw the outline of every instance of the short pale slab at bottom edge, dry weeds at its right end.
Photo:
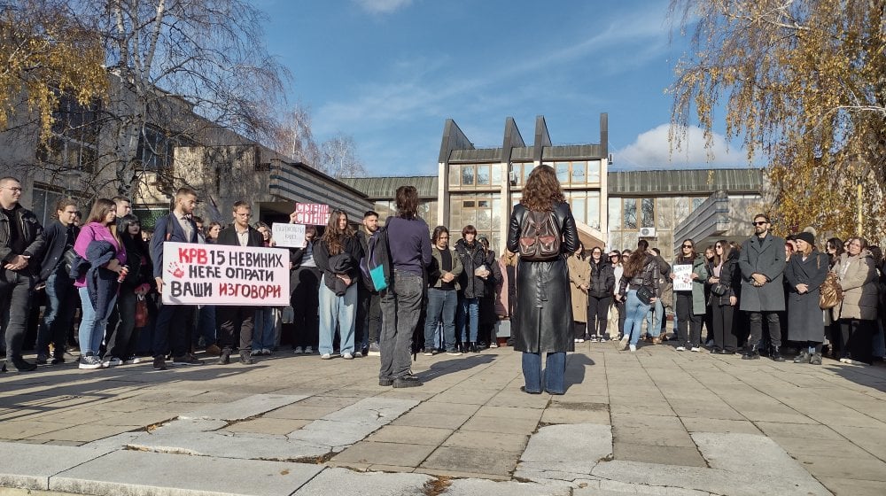
[(294, 496), (361, 494), (366, 496), (413, 496), (423, 494), (433, 477), (422, 474), (385, 474), (354, 472), (348, 469), (325, 469), (299, 488)]

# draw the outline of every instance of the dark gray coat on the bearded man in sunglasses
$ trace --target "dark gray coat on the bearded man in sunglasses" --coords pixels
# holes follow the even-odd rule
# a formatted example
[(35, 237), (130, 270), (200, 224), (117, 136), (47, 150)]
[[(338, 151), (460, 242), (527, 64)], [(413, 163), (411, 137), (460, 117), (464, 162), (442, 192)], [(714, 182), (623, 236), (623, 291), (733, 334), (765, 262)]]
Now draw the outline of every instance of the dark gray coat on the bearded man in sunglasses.
[[(757, 236), (750, 236), (742, 243), (738, 255), (738, 267), (742, 270), (742, 298), (739, 301), (745, 312), (784, 311), (784, 238), (767, 234), (761, 245)], [(751, 284), (751, 274), (766, 275), (767, 283), (760, 287)]]

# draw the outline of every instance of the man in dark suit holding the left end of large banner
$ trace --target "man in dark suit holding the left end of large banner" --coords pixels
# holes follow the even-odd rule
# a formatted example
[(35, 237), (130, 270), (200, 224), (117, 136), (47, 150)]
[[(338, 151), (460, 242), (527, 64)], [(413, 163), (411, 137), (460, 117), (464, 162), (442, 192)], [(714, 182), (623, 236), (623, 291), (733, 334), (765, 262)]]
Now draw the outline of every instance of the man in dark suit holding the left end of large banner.
[[(163, 293), (163, 244), (198, 242), (197, 224), (192, 218), (197, 206), (197, 193), (190, 188), (179, 188), (175, 192), (175, 208), (160, 217), (151, 237), (151, 261), (154, 265), (154, 279), (157, 291)], [(166, 354), (172, 345), (174, 365), (203, 365), (190, 353), (189, 322), (193, 321), (194, 306), (162, 305), (154, 323), (154, 369), (166, 370)], [(172, 323), (175, 322), (175, 326)]]

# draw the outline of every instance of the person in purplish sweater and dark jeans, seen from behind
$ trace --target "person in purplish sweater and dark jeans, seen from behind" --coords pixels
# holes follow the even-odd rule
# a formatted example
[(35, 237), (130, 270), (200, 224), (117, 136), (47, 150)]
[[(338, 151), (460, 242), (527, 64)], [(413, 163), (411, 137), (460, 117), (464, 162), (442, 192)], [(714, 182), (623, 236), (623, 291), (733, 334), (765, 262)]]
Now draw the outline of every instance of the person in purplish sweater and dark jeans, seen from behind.
[(389, 217), (388, 252), (391, 256), (391, 285), (382, 295), (381, 368), (378, 385), (396, 388), (422, 385), (409, 368), (412, 333), (421, 313), (425, 270), (431, 265), (428, 224), (418, 217), (415, 186), (397, 188), (397, 216)]

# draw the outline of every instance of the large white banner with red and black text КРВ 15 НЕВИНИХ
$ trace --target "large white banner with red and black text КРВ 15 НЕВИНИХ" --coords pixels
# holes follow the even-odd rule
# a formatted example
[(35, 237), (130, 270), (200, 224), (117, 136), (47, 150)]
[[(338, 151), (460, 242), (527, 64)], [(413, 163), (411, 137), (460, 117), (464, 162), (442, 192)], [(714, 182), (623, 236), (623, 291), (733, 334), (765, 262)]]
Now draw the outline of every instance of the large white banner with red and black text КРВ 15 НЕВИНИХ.
[(163, 244), (164, 305), (289, 305), (289, 252), (222, 244)]

